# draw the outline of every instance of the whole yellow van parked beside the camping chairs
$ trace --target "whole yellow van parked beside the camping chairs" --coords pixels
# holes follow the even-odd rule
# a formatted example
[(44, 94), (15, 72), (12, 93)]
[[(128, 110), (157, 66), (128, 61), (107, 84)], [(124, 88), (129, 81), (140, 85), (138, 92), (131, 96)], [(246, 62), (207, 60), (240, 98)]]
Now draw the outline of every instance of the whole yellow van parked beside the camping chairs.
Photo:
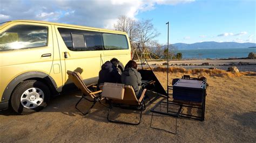
[(85, 84), (97, 83), (105, 61), (119, 70), (131, 59), (127, 34), (100, 28), (14, 20), (0, 24), (0, 109), (27, 114), (42, 110), (53, 95), (74, 87), (67, 70)]

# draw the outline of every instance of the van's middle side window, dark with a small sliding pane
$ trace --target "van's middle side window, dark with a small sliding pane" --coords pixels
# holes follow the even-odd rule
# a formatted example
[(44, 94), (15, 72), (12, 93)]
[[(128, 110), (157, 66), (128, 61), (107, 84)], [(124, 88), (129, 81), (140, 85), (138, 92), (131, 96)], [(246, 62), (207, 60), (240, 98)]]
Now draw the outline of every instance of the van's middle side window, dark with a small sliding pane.
[[(100, 32), (58, 28), (66, 47), (71, 51), (99, 51), (103, 50)], [(83, 37), (82, 37), (83, 35)]]

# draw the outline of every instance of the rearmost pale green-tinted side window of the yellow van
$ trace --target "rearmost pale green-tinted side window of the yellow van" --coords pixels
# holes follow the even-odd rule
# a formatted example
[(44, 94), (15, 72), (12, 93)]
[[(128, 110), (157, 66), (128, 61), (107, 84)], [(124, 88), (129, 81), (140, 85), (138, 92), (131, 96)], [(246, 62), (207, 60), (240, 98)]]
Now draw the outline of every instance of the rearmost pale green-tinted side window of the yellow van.
[(104, 48), (110, 49), (129, 49), (127, 38), (122, 34), (103, 33)]

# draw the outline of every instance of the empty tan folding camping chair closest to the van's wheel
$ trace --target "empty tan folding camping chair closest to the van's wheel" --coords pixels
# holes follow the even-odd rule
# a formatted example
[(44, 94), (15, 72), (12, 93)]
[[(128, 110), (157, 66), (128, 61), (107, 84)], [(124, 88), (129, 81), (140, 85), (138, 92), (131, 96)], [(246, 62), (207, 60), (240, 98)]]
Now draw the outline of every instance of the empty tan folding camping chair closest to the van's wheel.
[[(98, 91), (95, 91), (95, 92), (92, 92), (90, 89), (88, 89), (88, 87), (91, 87), (93, 86), (93, 84), (89, 85), (89, 86), (86, 86), (83, 82), (83, 78), (82, 76), (76, 72), (76, 71), (70, 71), (68, 70), (66, 72), (68, 75), (69, 75), (69, 78), (73, 81), (73, 83), (75, 83), (75, 85), (77, 86), (78, 89), (80, 89), (83, 93), (82, 97), (79, 99), (79, 101), (76, 103), (76, 106), (75, 108), (81, 112), (83, 115), (87, 115), (87, 113), (90, 112), (90, 110), (93, 108), (93, 106), (96, 104), (97, 101), (100, 102), (100, 95), (96, 95), (96, 94), (99, 94), (100, 92), (102, 92), (102, 90), (98, 90)], [(87, 96), (91, 97), (91, 99), (89, 98), (86, 98)], [(92, 102), (92, 105), (91, 107), (86, 111), (86, 112), (82, 112), (81, 110), (79, 110), (77, 108), (77, 105), (79, 104), (80, 101), (82, 101), (82, 99), (86, 99), (87, 101), (89, 102)]]

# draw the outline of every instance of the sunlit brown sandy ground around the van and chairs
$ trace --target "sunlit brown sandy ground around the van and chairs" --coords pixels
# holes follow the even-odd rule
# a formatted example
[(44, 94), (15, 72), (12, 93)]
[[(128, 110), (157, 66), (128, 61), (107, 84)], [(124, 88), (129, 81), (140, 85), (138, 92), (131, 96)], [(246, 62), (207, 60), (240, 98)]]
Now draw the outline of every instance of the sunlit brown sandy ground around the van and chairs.
[[(166, 73), (155, 72), (166, 87)], [(182, 73), (170, 74), (172, 78)], [(197, 75), (192, 75), (197, 76)], [(255, 142), (256, 141), (256, 76), (207, 76), (205, 121), (178, 119), (178, 134), (150, 128), (150, 109), (163, 96), (147, 94), (146, 110), (140, 125), (114, 124), (107, 121), (107, 108), (96, 104), (91, 113), (82, 116), (76, 109), (81, 92), (55, 97), (41, 112), (18, 116), (0, 112), (0, 142)], [(90, 105), (83, 102), (80, 108)], [(115, 119), (135, 121), (138, 111), (116, 108)], [(174, 131), (174, 118), (155, 115), (152, 125)]]

